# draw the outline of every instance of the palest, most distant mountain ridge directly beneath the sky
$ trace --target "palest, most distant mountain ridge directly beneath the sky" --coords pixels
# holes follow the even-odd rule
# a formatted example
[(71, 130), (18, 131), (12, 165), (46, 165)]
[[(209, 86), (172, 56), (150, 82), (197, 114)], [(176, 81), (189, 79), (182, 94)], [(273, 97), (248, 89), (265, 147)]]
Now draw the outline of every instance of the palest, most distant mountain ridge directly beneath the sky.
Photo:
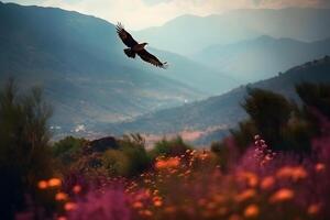
[[(162, 26), (136, 32), (157, 48), (183, 55), (216, 44), (232, 44), (260, 35), (319, 41), (330, 36), (329, 9), (246, 9), (209, 16), (183, 15)], [(194, 25), (187, 25), (194, 24)], [(294, 29), (293, 29), (294, 26)], [(187, 37), (189, 36), (189, 37)]]

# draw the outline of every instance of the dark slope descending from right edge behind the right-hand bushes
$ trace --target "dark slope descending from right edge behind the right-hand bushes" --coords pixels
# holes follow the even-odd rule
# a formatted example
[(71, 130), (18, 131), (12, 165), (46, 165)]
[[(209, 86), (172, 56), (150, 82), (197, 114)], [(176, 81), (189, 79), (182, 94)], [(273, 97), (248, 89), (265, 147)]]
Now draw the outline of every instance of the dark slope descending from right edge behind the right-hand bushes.
[[(267, 80), (249, 84), (248, 87), (273, 90), (299, 101), (294, 86), (301, 81), (330, 81), (329, 72), (330, 58), (324, 57), (292, 68)], [(242, 86), (221, 96), (211, 97), (207, 100), (188, 103), (183, 107), (148, 113), (140, 117), (138, 120), (107, 125), (105, 129), (118, 134), (122, 132), (145, 132), (158, 135), (179, 133), (184, 130), (201, 132), (210, 130), (209, 133), (218, 133), (218, 135), (213, 135), (213, 139), (216, 139), (216, 136), (221, 136), (223, 132), (226, 133), (228, 129), (234, 128), (239, 121), (246, 117), (240, 107), (245, 95), (246, 86)]]

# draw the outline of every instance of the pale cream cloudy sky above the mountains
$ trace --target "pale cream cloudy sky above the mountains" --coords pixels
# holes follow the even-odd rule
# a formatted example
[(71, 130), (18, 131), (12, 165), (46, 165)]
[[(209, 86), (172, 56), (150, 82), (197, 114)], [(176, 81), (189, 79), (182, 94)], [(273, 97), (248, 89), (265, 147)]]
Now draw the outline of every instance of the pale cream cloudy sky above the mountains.
[[(1, 1), (1, 0), (0, 0)], [(95, 15), (130, 30), (158, 26), (183, 15), (209, 15), (246, 8), (329, 8), (330, 0), (2, 0), (24, 6), (56, 7)]]

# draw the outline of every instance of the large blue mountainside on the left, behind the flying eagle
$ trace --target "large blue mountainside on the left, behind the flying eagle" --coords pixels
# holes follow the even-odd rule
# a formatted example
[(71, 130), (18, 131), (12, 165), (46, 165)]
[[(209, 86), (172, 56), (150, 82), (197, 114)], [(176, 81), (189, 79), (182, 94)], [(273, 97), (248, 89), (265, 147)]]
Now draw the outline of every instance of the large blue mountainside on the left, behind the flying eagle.
[[(164, 51), (160, 58), (170, 57), (168, 72), (129, 59), (111, 23), (77, 12), (0, 2), (0, 30), (1, 86), (10, 76), (24, 88), (41, 86), (55, 108), (52, 124), (59, 132), (131, 119), (234, 85), (229, 77)], [(206, 92), (194, 87), (197, 76), (208, 75), (228, 87)]]

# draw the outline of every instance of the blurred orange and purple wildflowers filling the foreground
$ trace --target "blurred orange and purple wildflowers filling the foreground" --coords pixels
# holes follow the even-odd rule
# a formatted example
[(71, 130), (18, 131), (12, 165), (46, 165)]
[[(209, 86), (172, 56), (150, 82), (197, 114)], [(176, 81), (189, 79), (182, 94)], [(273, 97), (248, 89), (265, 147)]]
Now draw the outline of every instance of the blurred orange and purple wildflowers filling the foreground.
[[(258, 143), (227, 173), (210, 165), (209, 151), (188, 150), (179, 156), (156, 160), (154, 170), (136, 178), (110, 180), (99, 188), (73, 194), (63, 204), (62, 215), (67, 219), (92, 216), (110, 220), (328, 219), (328, 134), (314, 140), (312, 158), (299, 160), (284, 153), (266, 163), (254, 156), (255, 150), (264, 145), (263, 140), (255, 139)], [(264, 153), (266, 158), (268, 153)]]

